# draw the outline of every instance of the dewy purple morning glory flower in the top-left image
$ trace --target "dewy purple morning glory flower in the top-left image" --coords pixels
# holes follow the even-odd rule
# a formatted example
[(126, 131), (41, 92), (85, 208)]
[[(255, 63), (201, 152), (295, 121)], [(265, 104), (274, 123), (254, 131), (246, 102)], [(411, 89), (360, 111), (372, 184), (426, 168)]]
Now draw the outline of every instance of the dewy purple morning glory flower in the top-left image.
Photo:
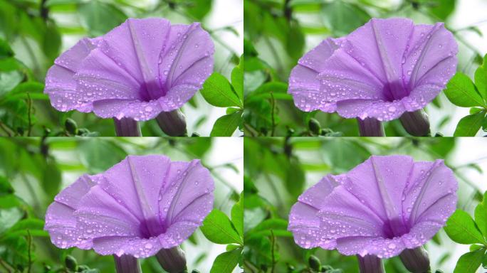
[[(44, 92), (59, 111), (114, 118), (122, 135), (137, 135), (133, 124), (154, 118), (165, 129), (167, 119), (180, 116), (174, 111), (211, 75), (213, 54), (214, 44), (199, 23), (129, 18), (61, 54), (48, 70)], [(185, 123), (176, 125), (186, 130)]]

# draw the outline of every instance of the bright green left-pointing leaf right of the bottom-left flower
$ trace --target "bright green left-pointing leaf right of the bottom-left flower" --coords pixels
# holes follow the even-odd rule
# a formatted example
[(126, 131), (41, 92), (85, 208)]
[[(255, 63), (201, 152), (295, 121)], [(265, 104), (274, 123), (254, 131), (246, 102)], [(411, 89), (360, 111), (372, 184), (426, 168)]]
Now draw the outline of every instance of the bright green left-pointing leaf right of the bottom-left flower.
[(206, 239), (216, 244), (237, 243), (244, 245), (239, 232), (235, 230), (228, 216), (216, 208), (204, 219), (201, 232)]

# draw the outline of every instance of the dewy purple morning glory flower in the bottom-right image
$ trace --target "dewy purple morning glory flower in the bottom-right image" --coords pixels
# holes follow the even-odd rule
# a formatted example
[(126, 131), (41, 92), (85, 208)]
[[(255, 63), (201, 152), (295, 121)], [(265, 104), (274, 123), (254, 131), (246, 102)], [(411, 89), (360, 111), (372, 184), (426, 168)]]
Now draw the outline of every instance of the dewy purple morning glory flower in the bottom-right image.
[(409, 271), (426, 272), (429, 259), (421, 246), (454, 212), (456, 189), (443, 160), (371, 156), (299, 196), (288, 230), (300, 247), (357, 255), (361, 267), (377, 264), (362, 272), (380, 272), (379, 259), (397, 255)]

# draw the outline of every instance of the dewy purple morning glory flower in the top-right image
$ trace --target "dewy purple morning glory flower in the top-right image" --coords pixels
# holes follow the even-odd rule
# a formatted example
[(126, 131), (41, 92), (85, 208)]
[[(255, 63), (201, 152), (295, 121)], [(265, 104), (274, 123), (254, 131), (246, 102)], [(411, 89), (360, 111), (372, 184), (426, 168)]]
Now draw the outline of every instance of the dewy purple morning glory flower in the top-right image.
[(303, 55), (290, 74), (288, 92), (305, 112), (357, 118), (366, 127), (362, 135), (381, 135), (367, 127), (398, 118), (410, 134), (424, 135), (429, 124), (421, 109), (454, 75), (457, 52), (444, 23), (372, 18)]

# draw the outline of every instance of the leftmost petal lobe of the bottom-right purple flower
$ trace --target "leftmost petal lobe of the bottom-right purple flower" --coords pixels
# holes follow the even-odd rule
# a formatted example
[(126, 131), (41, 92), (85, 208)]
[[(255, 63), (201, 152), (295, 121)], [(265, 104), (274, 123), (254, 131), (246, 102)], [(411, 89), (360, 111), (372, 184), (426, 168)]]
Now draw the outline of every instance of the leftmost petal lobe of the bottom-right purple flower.
[(323, 200), (338, 185), (331, 176), (324, 177), (320, 182), (305, 191), (298, 203), (293, 205), (289, 213), (288, 230), (293, 232), (297, 245), (304, 248), (323, 247), (333, 249), (335, 240), (330, 239), (322, 230), (318, 211), (324, 207)]

